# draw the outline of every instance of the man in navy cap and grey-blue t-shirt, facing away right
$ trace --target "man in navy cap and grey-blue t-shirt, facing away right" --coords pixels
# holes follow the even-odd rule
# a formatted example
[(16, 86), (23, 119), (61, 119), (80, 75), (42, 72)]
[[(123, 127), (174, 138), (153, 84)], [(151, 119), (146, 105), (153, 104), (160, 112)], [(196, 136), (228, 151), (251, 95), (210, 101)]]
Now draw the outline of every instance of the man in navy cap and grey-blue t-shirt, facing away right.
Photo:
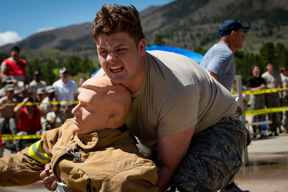
[[(207, 69), (219, 83), (229, 91), (235, 78), (236, 65), (234, 52), (243, 46), (244, 33), (251, 29), (242, 26), (238, 20), (225, 20), (219, 26), (220, 41), (211, 47), (204, 55), (200, 65)], [(237, 108), (239, 110), (240, 108)], [(234, 178), (221, 192), (242, 192), (235, 183)], [(245, 191), (247, 192), (247, 191)]]

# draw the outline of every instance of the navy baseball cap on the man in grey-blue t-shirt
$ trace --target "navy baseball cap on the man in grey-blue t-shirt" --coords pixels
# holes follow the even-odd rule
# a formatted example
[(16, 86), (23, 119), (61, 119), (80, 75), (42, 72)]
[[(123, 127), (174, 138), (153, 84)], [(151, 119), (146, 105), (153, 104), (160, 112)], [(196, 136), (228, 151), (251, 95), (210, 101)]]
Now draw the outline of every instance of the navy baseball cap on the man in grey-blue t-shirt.
[(236, 19), (225, 20), (222, 25), (219, 26), (219, 36), (223, 37), (224, 35), (230, 34), (232, 31), (241, 30), (249, 31), (250, 26), (242, 26), (241, 23)]

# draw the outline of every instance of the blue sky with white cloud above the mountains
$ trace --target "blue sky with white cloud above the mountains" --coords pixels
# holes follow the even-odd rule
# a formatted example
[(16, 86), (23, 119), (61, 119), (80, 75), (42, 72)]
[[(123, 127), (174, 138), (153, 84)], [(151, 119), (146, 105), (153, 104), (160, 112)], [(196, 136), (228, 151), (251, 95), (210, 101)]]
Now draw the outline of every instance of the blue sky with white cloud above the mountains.
[(134, 5), (138, 11), (175, 0), (2, 0), (0, 2), (0, 46), (15, 43), (41, 31), (92, 22), (105, 4)]

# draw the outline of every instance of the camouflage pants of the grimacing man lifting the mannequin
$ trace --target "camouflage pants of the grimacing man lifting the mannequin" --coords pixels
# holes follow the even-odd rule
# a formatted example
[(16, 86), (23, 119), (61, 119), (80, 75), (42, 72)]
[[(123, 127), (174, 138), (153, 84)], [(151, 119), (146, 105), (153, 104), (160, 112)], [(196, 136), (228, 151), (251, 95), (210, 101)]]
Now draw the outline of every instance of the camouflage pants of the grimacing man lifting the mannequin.
[[(193, 136), (170, 191), (209, 192), (222, 189), (240, 169), (242, 152), (250, 142), (244, 123), (226, 118)], [(142, 150), (141, 144), (137, 146), (141, 153), (151, 155), (151, 150)]]

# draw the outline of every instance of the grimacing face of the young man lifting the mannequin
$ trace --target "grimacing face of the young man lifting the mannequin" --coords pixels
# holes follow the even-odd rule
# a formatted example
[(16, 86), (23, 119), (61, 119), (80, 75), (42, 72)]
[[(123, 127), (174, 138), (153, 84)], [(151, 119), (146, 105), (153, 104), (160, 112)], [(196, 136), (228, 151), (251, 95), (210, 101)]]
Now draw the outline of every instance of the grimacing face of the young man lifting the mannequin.
[(113, 83), (121, 83), (129, 89), (129, 84), (143, 73), (140, 58), (145, 54), (143, 42), (136, 45), (128, 33), (120, 32), (110, 36), (100, 34), (96, 44), (99, 63), (106, 75)]

